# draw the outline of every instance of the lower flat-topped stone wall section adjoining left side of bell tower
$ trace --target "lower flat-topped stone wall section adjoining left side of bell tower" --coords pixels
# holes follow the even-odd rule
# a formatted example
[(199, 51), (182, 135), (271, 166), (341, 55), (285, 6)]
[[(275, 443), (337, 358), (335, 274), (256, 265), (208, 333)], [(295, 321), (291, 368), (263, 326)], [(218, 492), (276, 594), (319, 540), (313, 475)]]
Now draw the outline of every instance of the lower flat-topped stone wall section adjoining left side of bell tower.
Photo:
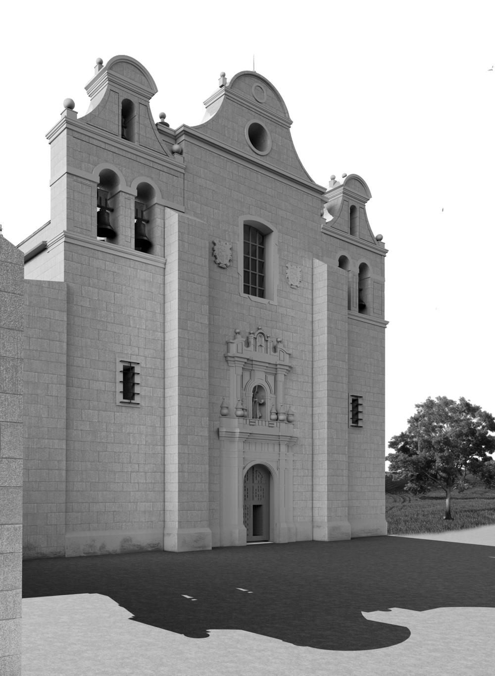
[(65, 556), (67, 285), (24, 297), (24, 558)]

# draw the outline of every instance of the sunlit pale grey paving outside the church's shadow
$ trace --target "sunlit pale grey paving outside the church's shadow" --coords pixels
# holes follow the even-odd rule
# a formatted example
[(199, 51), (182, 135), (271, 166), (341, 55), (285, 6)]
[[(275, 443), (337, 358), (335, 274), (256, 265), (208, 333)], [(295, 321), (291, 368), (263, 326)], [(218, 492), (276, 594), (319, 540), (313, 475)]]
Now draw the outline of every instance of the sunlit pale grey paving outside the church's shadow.
[[(495, 526), (407, 537), (495, 548)], [(493, 561), (495, 572), (495, 549), (482, 551), (488, 565), (490, 559)], [(363, 612), (367, 621), (400, 625), (411, 631), (405, 641), (376, 650), (319, 650), (236, 629), (213, 629), (207, 639), (189, 638), (128, 621), (132, 614), (102, 594), (25, 598), (22, 612), (23, 676), (494, 673), (493, 607)]]

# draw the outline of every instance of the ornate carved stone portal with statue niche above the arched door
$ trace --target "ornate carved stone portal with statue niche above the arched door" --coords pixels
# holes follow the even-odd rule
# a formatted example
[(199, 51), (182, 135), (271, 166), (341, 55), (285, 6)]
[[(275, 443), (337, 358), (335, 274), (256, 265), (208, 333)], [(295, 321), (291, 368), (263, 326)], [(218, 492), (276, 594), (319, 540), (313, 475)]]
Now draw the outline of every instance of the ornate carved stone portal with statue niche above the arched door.
[[(227, 341), (225, 357), (230, 391), (222, 402), (218, 431), (220, 546), (246, 544), (246, 537), (248, 541), (295, 541), (292, 446), (297, 439), (292, 424), (294, 413), (284, 400), (285, 379), (291, 370), (290, 352), (281, 339), (273, 341), (258, 327), (246, 338), (236, 331), (234, 339)], [(255, 465), (263, 465), (257, 471), (266, 473), (269, 499), (248, 502), (246, 516), (244, 491), (248, 489), (244, 477), (248, 482), (249, 477), (253, 478)], [(253, 529), (259, 530), (260, 524), (263, 535), (254, 535)]]

